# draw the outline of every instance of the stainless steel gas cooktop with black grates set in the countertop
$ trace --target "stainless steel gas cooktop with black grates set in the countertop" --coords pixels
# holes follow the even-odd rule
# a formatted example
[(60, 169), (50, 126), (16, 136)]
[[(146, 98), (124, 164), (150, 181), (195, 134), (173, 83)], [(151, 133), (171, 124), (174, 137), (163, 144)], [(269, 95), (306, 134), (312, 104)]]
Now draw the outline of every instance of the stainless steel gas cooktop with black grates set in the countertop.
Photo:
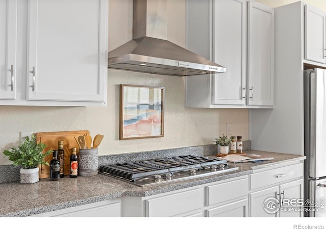
[(99, 173), (145, 186), (238, 170), (226, 160), (194, 155), (102, 165)]

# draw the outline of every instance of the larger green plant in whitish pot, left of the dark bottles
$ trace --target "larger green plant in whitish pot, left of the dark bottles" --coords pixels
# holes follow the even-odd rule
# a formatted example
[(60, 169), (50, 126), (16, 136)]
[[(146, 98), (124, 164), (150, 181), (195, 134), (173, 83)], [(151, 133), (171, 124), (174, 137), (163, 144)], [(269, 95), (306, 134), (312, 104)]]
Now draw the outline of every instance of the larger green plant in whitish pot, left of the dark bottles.
[(33, 134), (26, 137), (18, 148), (13, 147), (10, 150), (5, 150), (3, 154), (8, 156), (9, 160), (13, 161), (14, 165), (20, 165), (20, 183), (33, 184), (39, 181), (39, 164), (46, 164), (43, 159), (51, 154), (51, 149), (44, 154), (42, 151), (46, 147), (45, 144), (40, 142), (36, 143), (36, 136)]

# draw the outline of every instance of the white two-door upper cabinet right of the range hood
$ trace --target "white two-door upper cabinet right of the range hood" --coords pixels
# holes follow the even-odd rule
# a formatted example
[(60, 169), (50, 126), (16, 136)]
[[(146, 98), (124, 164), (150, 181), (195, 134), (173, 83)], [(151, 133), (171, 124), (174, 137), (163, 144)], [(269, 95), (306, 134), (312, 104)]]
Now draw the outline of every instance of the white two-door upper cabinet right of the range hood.
[(226, 68), (187, 76), (186, 107), (273, 108), (273, 9), (247, 0), (187, 1), (186, 17), (187, 48)]

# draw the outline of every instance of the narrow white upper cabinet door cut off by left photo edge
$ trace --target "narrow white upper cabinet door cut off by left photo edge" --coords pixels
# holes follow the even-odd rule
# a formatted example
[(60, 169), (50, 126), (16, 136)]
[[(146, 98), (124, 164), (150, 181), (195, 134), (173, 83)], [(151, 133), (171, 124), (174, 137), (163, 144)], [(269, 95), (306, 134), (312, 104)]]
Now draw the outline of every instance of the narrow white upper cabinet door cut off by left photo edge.
[(0, 1), (0, 99), (16, 98), (17, 0)]

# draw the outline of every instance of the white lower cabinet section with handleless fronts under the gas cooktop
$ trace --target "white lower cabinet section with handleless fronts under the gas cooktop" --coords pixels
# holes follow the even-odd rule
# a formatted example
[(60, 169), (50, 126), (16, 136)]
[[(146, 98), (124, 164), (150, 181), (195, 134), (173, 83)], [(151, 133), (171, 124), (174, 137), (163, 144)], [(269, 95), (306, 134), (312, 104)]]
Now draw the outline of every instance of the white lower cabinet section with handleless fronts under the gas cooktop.
[(123, 197), (123, 217), (247, 217), (249, 178), (223, 181), (148, 197)]

